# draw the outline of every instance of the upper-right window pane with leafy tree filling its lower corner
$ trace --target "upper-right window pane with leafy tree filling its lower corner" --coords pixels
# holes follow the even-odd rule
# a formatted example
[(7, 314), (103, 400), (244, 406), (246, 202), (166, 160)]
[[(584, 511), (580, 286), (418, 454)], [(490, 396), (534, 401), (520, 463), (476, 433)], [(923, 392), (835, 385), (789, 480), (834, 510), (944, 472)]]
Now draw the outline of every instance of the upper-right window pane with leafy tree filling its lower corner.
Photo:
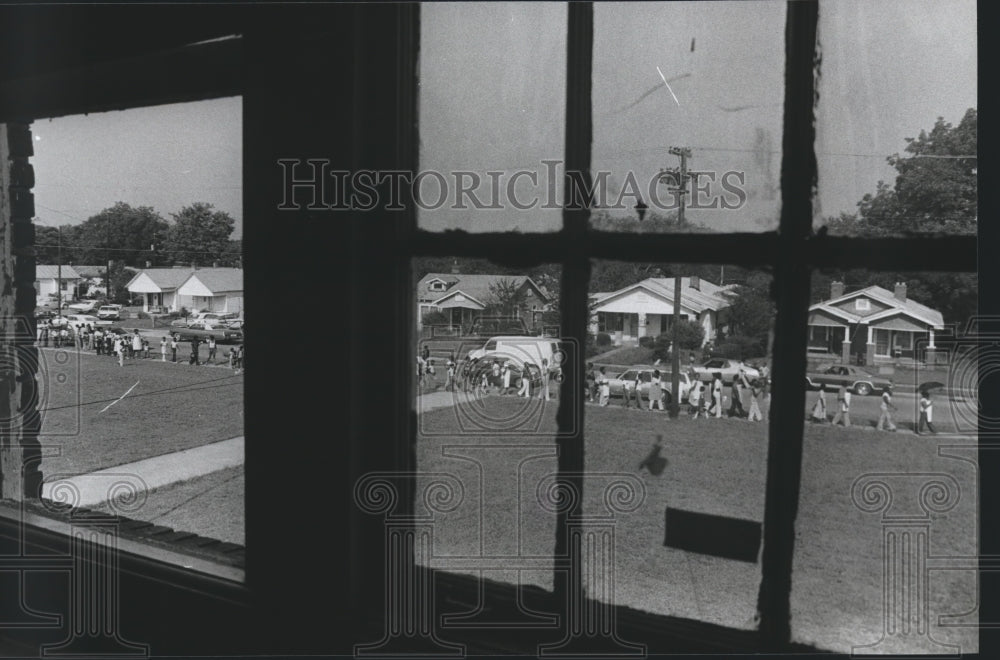
[(814, 226), (975, 234), (976, 3), (838, 0), (819, 19)]

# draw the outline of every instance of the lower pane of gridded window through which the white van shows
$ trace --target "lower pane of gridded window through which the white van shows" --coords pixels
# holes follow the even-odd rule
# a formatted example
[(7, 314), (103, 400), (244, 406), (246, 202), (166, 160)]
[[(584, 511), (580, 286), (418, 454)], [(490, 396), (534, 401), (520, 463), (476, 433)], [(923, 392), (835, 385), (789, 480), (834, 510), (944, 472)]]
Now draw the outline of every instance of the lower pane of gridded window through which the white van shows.
[(413, 266), (418, 502), (435, 482), (461, 493), (447, 510), (418, 504), (434, 536), (417, 562), (479, 578), (483, 597), (490, 582), (551, 590), (555, 512), (537, 492), (556, 472), (560, 269)]

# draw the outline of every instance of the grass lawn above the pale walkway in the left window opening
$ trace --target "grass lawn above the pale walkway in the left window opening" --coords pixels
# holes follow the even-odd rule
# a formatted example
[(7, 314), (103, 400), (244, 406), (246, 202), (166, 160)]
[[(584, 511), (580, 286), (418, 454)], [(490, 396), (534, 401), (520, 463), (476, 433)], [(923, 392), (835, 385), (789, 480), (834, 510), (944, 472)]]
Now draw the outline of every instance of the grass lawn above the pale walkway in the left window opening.
[(243, 376), (229, 369), (152, 359), (119, 367), (113, 358), (55, 350), (42, 356), (46, 479), (243, 435)]

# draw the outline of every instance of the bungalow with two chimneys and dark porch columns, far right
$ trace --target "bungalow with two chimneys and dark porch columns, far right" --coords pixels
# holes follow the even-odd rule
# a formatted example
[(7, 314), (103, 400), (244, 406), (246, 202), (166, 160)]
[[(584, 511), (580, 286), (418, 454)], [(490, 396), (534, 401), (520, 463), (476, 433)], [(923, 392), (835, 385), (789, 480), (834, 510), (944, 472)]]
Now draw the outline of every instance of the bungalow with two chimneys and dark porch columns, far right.
[[(847, 294), (842, 282), (833, 282), (830, 299), (809, 308), (810, 352), (839, 354), (844, 362), (852, 356), (865, 364), (933, 361), (936, 330), (944, 330), (941, 312), (907, 298), (905, 282), (896, 283), (894, 291), (868, 286)], [(923, 351), (921, 338), (927, 339)]]

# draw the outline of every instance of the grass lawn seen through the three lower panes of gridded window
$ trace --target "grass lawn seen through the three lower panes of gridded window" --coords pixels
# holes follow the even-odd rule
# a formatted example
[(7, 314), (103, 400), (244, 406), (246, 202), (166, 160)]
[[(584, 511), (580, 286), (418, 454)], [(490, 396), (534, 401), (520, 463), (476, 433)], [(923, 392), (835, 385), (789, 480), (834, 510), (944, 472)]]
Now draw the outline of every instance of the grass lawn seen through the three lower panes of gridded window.
[[(872, 411), (877, 417), (877, 399), (867, 398), (872, 401), (865, 401), (855, 417), (867, 417)], [(855, 397), (855, 402), (859, 399)], [(871, 411), (868, 403), (873, 404)], [(488, 397), (484, 414), (510, 417), (520, 405), (514, 398)], [(447, 568), (442, 558), (456, 555), (551, 555), (555, 516), (540, 506), (536, 487), (556, 469), (555, 409), (555, 405), (545, 408), (539, 426), (544, 435), (535, 437), (463, 437), (454, 410), (424, 413), (422, 429), (435, 433), (452, 429), (454, 435), (419, 439), (421, 472), (452, 474), (464, 488), (461, 505), (435, 514), (436, 565)], [(586, 408), (585, 511), (603, 510), (599, 498), (609, 477), (602, 473), (634, 475), (645, 487), (644, 504), (616, 520), (617, 604), (731, 627), (755, 627), (759, 561), (739, 562), (664, 547), (664, 512), (671, 506), (762, 521), (767, 430), (766, 424), (736, 419), (682, 416), (671, 420), (659, 412), (614, 405)], [(639, 471), (638, 465), (657, 435), (663, 437), (662, 455), (668, 462), (664, 472), (654, 476)], [(939, 446), (964, 445), (965, 449), (951, 450), (956, 453), (972, 443), (969, 438), (806, 426), (793, 569), (796, 640), (850, 652), (853, 645), (869, 644), (881, 636), (883, 527), (879, 514), (861, 511), (851, 499), (852, 484), (862, 475), (895, 475), (892, 478), (900, 485), (894, 495), (899, 506), (908, 510), (916, 506), (917, 495), (906, 490), (914, 479), (907, 475), (950, 475), (961, 487), (961, 499), (952, 510), (932, 518), (930, 554), (976, 554), (974, 465), (938, 455)], [(513, 572), (484, 572), (484, 577), (518, 580)], [(551, 588), (546, 572), (522, 574), (520, 581)], [(969, 612), (976, 603), (973, 572), (930, 573), (930, 630), (935, 639), (959, 644), (964, 653), (978, 650), (974, 628), (937, 625), (938, 615)], [(921, 638), (905, 650), (926, 653), (933, 649)]]

